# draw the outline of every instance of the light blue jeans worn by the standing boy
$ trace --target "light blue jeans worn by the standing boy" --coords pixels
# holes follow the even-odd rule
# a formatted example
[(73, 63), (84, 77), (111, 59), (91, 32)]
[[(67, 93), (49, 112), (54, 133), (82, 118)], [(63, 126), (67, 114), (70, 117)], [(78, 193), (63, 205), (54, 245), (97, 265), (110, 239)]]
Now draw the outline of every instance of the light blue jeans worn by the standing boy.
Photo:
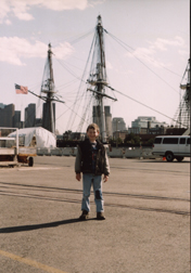
[(94, 203), (97, 205), (97, 212), (103, 211), (103, 197), (102, 197), (102, 177), (92, 173), (82, 174), (82, 202), (81, 210), (90, 211), (90, 192), (91, 184), (93, 185)]

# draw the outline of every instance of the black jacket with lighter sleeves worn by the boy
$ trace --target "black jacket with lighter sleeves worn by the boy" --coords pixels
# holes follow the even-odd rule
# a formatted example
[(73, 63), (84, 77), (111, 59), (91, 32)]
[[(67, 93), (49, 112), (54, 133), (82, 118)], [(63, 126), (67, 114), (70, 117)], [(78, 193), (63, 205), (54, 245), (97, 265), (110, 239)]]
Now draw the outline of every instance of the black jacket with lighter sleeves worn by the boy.
[[(103, 144), (97, 140), (97, 159), (96, 159), (96, 176), (109, 176), (110, 165), (109, 158)], [(75, 162), (76, 173), (92, 173), (92, 151), (89, 139), (82, 141), (77, 147), (76, 162)]]

